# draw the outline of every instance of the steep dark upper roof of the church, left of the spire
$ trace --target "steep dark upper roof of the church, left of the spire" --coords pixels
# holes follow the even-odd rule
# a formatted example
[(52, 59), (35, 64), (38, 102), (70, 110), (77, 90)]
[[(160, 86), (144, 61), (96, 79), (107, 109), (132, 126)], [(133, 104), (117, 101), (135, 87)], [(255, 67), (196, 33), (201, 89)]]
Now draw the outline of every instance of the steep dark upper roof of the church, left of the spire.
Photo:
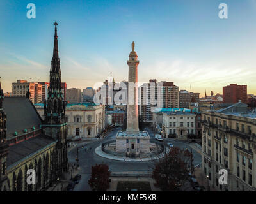
[(6, 139), (13, 137), (15, 132), (24, 133), (24, 129), (31, 131), (40, 128), (42, 119), (36, 111), (34, 105), (28, 98), (6, 97), (3, 101), (3, 111), (7, 115), (6, 119)]

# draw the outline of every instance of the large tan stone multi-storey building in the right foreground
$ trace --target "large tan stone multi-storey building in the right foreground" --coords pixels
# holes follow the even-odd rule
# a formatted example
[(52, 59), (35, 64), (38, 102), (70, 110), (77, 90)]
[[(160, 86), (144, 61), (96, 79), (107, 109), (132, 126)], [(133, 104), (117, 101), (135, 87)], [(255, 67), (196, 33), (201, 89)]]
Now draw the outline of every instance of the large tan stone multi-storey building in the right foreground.
[[(256, 190), (256, 113), (238, 103), (202, 113), (202, 173), (219, 191)], [(218, 181), (221, 169), (228, 184)]]

